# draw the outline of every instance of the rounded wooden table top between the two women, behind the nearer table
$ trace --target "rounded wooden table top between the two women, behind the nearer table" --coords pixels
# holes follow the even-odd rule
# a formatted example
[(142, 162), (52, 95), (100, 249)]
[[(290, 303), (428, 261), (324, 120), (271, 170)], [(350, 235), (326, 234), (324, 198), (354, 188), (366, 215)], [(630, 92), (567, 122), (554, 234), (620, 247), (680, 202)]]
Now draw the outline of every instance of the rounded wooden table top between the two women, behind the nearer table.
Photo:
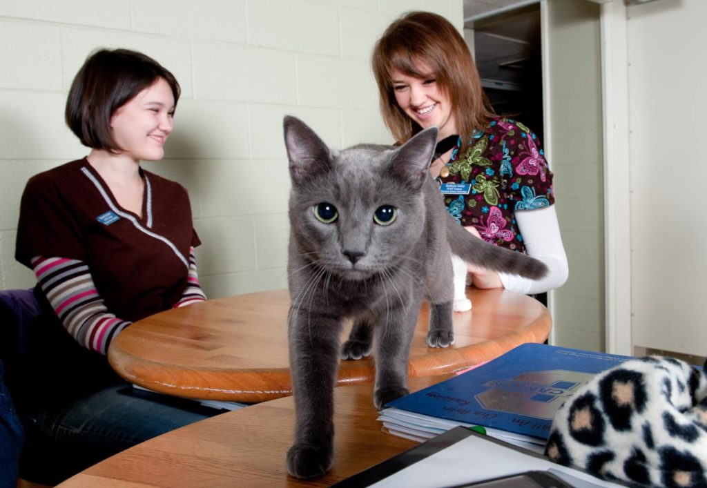
[[(455, 344), (425, 342), (423, 304), (409, 356), (409, 376), (460, 371), (525, 342), (547, 339), (551, 318), (534, 298), (506, 290), (467, 289), (473, 308), (454, 314)], [(291, 395), (287, 290), (217, 298), (139, 320), (110, 344), (123, 378), (181, 397), (255, 403)], [(350, 324), (345, 327), (346, 337)], [(373, 383), (372, 358), (341, 361), (337, 385)]]

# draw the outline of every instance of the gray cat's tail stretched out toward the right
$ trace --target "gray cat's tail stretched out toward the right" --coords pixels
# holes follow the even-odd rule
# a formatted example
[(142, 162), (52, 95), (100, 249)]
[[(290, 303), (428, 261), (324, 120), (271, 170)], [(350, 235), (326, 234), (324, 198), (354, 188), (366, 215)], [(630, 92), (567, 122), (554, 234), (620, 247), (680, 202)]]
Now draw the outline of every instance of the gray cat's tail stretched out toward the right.
[(534, 257), (499, 248), (483, 239), (472, 236), (452, 219), (447, 219), (447, 239), (452, 253), (473, 265), (493, 271), (520, 274), (530, 279), (540, 279), (547, 274), (547, 266)]

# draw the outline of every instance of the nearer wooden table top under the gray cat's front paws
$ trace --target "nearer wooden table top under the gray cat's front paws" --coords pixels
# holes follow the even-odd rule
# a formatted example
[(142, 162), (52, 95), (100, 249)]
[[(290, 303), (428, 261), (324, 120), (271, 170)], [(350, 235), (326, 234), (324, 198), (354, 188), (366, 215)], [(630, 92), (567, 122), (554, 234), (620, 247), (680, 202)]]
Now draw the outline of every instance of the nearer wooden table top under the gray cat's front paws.
[[(411, 378), (419, 390), (448, 376)], [(315, 480), (290, 477), (293, 397), (217, 415), (141, 443), (59, 484), (62, 488), (328, 487), (418, 445), (380, 430), (373, 385), (334, 390), (334, 467)]]

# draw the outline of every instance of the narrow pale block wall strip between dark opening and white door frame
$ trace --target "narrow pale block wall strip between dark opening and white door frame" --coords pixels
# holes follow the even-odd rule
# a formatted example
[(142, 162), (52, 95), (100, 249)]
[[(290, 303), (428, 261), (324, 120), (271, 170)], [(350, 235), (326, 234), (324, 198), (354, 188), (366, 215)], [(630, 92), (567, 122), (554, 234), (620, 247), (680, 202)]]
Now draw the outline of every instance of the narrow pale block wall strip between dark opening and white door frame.
[[(550, 168), (569, 277), (552, 291), (553, 344), (603, 351), (604, 173), (600, 6), (547, 2)], [(546, 129), (547, 132), (547, 129)]]

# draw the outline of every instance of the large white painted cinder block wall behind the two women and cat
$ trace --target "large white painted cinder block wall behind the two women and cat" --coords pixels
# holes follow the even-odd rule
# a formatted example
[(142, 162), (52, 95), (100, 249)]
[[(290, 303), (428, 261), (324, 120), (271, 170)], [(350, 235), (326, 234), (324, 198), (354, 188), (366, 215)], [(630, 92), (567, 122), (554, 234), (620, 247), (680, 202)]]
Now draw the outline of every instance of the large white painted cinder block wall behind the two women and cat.
[(25, 182), (88, 153), (64, 103), (98, 47), (142, 51), (180, 81), (165, 159), (145, 167), (189, 191), (206, 294), (284, 288), (282, 117), (334, 147), (389, 144), (369, 55), (409, 10), (462, 30), (462, 0), (0, 0), (0, 289), (35, 283), (14, 260)]

